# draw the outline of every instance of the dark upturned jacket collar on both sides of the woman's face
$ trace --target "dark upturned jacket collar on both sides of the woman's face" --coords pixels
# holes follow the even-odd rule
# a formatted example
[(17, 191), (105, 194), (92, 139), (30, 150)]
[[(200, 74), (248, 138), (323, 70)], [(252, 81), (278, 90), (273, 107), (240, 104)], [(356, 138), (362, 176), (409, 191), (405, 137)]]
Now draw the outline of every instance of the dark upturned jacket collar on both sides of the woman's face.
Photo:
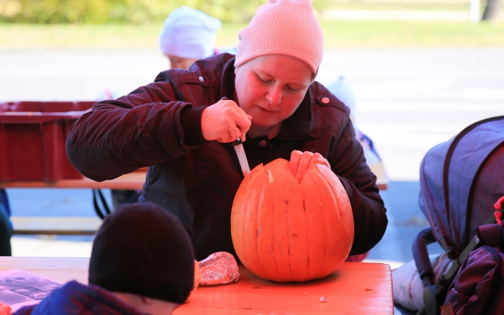
[[(229, 59), (224, 64), (221, 97), (235, 100), (235, 58)], [(308, 88), (300, 106), (289, 118), (283, 121), (280, 133), (276, 137), (281, 139), (304, 138), (311, 133), (311, 127), (311, 92), (310, 88)]]

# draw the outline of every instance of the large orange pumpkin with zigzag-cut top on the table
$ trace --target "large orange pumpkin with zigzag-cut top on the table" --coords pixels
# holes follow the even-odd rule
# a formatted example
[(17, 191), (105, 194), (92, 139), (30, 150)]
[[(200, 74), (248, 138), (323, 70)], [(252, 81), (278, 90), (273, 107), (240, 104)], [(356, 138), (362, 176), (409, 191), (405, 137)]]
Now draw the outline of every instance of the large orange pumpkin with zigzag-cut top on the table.
[(262, 279), (308, 281), (335, 272), (353, 243), (346, 191), (325, 165), (299, 183), (287, 160), (258, 165), (238, 188), (231, 235), (241, 262)]

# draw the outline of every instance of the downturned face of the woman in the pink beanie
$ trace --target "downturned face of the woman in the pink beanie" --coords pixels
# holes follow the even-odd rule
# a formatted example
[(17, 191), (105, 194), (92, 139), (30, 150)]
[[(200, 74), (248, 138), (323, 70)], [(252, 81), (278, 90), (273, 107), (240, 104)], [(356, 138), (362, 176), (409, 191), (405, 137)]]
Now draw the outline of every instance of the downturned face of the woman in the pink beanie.
[(278, 125), (294, 113), (313, 82), (307, 63), (288, 55), (264, 55), (235, 69), (235, 89), (241, 109), (252, 116), (252, 127)]

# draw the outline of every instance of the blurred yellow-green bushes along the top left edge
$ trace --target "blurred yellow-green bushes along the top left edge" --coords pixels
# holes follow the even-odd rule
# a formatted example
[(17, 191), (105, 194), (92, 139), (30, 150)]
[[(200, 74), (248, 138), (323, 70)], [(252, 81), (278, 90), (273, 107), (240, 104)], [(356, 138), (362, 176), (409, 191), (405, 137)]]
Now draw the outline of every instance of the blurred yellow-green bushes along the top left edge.
[(162, 22), (176, 8), (190, 6), (225, 22), (246, 22), (263, 0), (0, 0), (1, 22)]

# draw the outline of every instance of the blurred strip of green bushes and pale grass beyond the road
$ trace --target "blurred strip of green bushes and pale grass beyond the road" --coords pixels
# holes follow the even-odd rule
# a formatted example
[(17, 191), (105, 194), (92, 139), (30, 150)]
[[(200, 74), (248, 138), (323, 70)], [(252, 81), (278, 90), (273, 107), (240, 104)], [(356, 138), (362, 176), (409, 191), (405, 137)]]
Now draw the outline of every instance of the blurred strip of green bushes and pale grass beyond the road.
[[(500, 19), (472, 23), (470, 0), (313, 0), (326, 48), (475, 47), (504, 45)], [(477, 1), (477, 0), (476, 0)], [(503, 2), (504, 0), (490, 0)], [(0, 49), (152, 49), (175, 8), (190, 6), (223, 21), (218, 47), (236, 45), (237, 33), (266, 0), (0, 0)], [(480, 16), (486, 0), (480, 2)], [(356, 12), (383, 18), (341, 18)], [(387, 18), (420, 12), (446, 19)], [(333, 13), (337, 13), (337, 16)], [(379, 15), (381, 16), (381, 15)], [(453, 19), (454, 16), (462, 17)], [(467, 17), (464, 19), (464, 17)], [(338, 18), (339, 17), (339, 18)]]

